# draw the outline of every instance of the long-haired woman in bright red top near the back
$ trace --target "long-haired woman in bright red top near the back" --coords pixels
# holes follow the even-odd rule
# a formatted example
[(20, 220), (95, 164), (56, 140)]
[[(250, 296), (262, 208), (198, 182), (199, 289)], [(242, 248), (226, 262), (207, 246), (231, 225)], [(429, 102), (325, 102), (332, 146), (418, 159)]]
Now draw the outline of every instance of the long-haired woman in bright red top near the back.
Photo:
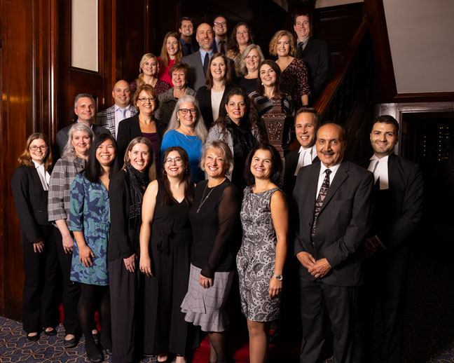
[(158, 78), (160, 81), (169, 83), (172, 87), (172, 75), (170, 74), (170, 67), (178, 64), (183, 57), (181, 51), (181, 43), (179, 42), (179, 35), (177, 32), (168, 32), (165, 34), (161, 54), (158, 57), (159, 72)]

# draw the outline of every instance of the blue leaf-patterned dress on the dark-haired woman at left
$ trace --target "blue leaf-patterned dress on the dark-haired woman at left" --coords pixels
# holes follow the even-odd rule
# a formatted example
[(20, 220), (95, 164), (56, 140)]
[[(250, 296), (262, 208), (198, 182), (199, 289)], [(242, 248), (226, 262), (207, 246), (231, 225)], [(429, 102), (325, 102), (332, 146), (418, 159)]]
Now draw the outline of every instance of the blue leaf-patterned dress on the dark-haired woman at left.
[(110, 207), (109, 193), (101, 181), (89, 182), (85, 172), (77, 174), (71, 185), (69, 205), (69, 231), (81, 231), (85, 243), (95, 257), (91, 267), (79, 262), (79, 250), (74, 238), (71, 281), (88, 285), (109, 285), (107, 273), (107, 243), (109, 242)]

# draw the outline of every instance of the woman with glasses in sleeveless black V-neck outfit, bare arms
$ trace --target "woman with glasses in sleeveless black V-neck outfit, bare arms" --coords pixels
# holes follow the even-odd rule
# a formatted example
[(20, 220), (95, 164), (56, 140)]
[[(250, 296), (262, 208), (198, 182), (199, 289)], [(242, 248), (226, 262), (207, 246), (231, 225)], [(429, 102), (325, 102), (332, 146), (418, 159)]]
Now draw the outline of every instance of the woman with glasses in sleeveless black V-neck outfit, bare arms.
[(167, 362), (172, 352), (184, 363), (191, 348), (179, 307), (188, 286), (193, 193), (188, 154), (171, 146), (164, 151), (162, 179), (146, 189), (140, 229), (140, 270), (147, 276), (144, 352), (158, 354), (158, 362)]

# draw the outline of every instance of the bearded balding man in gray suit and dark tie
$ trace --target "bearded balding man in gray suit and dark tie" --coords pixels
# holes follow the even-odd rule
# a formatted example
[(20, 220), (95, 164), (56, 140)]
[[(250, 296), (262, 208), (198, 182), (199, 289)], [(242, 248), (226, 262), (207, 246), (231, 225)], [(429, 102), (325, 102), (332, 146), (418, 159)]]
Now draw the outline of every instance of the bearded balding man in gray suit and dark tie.
[(182, 63), (188, 64), (189, 67), (189, 87), (198, 90), (205, 85), (205, 76), (207, 74), (210, 58), (213, 56), (214, 32), (211, 25), (203, 22), (197, 27), (195, 34), (200, 49), (186, 57), (181, 58)]

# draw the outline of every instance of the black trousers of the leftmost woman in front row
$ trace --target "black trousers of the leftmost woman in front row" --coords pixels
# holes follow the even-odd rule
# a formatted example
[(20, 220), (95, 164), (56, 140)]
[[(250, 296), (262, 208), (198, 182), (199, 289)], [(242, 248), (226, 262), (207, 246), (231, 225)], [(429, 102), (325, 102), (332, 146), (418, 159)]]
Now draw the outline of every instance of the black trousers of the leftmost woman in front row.
[(24, 257), (24, 295), (22, 320), (27, 333), (58, 323), (55, 306), (57, 248), (52, 226), (40, 226), (44, 237), (43, 252), (34, 252), (33, 243), (22, 235)]

